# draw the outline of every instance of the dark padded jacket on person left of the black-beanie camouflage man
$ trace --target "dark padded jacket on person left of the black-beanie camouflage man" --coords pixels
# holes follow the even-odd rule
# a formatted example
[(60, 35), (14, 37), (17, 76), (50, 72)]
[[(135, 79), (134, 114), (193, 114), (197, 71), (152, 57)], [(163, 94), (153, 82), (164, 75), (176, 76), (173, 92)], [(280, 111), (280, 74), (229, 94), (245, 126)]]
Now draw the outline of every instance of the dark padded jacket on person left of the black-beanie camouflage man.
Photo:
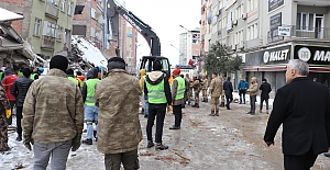
[(32, 84), (33, 80), (26, 77), (19, 78), (14, 81), (11, 87), (11, 94), (16, 100), (16, 106), (23, 106), (28, 90)]

